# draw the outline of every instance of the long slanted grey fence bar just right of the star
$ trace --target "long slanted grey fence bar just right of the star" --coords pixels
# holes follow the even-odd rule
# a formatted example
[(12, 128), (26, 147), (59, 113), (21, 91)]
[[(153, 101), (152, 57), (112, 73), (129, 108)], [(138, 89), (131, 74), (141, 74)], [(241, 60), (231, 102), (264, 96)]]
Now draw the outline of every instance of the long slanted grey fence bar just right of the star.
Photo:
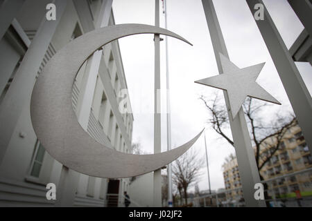
[[(258, 20), (256, 23), (266, 43), (268, 52), (270, 52), (277, 73), (279, 73), (299, 125), (302, 128), (306, 143), (312, 153), (312, 98), (309, 90), (306, 88), (300, 72), (295, 66), (295, 62), (288, 52), (281, 35), (279, 35), (279, 31), (270, 17), (268, 10), (266, 10), (263, 1), (246, 0), (246, 2), (252, 14), (254, 13), (255, 4), (261, 3), (263, 5), (264, 19)], [(300, 1), (300, 3), (303, 2)], [(297, 4), (293, 3), (293, 6), (297, 6)], [(306, 23), (304, 25), (306, 26)], [(309, 26), (306, 26), (306, 30), (310, 31), (308, 28)]]

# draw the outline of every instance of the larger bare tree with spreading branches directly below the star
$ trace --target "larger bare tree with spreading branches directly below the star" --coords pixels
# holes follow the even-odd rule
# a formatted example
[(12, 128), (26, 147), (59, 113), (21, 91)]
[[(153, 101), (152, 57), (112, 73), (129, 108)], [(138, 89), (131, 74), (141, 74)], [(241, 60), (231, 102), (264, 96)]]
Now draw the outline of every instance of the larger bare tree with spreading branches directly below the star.
[[(214, 99), (206, 99), (200, 96), (202, 102), (209, 110), (210, 117), (208, 123), (214, 128), (214, 131), (221, 135), (229, 144), (234, 146), (232, 138), (225, 133), (229, 126), (229, 119), (227, 116), (226, 107), (220, 104), (218, 95)], [(243, 104), (243, 111), (248, 119), (248, 128), (250, 131), (250, 137), (252, 137), (252, 144), (255, 146), (255, 157), (259, 171), (263, 166), (270, 160), (274, 153), (281, 148), (281, 142), (284, 135), (289, 128), (297, 125), (297, 119), (294, 115), (290, 114), (290, 117), (283, 117), (281, 115), (276, 115), (274, 123), (265, 123), (263, 117), (259, 114), (263, 111), (268, 103), (259, 103), (254, 99), (248, 97)], [(274, 142), (268, 142), (268, 140), (274, 140)], [(266, 155), (261, 155), (261, 147), (265, 148), (263, 150)], [(231, 160), (231, 159), (229, 159)], [(261, 180), (263, 177), (261, 176)]]

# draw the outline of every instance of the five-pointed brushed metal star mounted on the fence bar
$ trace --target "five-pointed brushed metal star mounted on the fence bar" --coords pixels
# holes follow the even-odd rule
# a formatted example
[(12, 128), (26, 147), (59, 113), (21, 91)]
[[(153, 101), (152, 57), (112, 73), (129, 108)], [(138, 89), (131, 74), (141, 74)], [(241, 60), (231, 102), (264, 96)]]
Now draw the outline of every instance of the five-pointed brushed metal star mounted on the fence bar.
[(219, 56), (223, 74), (207, 77), (195, 82), (227, 90), (233, 118), (239, 112), (239, 109), (247, 96), (261, 99), (266, 102), (281, 104), (256, 82), (265, 63), (256, 64), (246, 68), (238, 68), (221, 53), (219, 53)]

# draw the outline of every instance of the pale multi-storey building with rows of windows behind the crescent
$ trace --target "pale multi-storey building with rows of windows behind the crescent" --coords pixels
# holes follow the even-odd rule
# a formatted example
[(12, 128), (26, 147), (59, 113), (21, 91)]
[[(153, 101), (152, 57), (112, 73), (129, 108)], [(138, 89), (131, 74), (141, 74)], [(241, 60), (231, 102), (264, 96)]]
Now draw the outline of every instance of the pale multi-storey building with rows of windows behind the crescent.
[[(79, 2), (67, 1), (46, 55), (42, 57), (42, 65), (38, 74), (55, 52), (69, 41), (87, 32), (85, 27), (94, 27), (102, 1), (85, 1), (85, 5), (89, 6), (90, 10), (85, 10), (83, 14), (78, 13)], [(48, 1), (26, 1), (16, 17), (21, 28), (19, 32), (24, 32), (23, 36), (26, 36), (26, 40), (30, 42), (42, 19), (45, 18), (46, 3)], [(90, 17), (93, 20), (87, 19)], [(113, 15), (110, 17), (110, 25), (112, 24), (114, 24)], [(8, 95), (6, 88), (10, 86), (10, 82), (14, 81), (15, 77), (18, 77), (14, 73), (19, 68), (19, 62), (24, 59), (28, 46), (24, 44), (17, 30), (10, 26), (6, 35), (0, 40), (0, 48), (0, 68), (6, 73), (6, 75), (1, 74), (1, 107), (1, 100)], [(73, 108), (76, 113), (80, 107), (79, 97), (85, 93), (82, 83), (86, 71), (87, 68), (83, 65), (73, 86)], [(6, 84), (2, 84), (3, 82)], [(33, 79), (34, 83), (35, 79)], [(121, 115), (118, 111), (118, 93), (121, 88), (127, 88), (127, 84), (119, 44), (118, 41), (114, 41), (103, 48), (87, 132), (98, 142), (109, 143), (117, 151), (130, 153), (133, 116)], [(12, 133), (8, 149), (0, 165), (0, 206), (53, 206), (53, 202), (46, 200), (45, 186), (49, 182), (58, 185), (62, 164), (53, 160), (49, 153), (44, 151), (35, 136), (30, 117), (30, 98), (29, 95), (28, 101), (21, 110), (15, 131)], [(103, 206), (109, 180), (83, 174), (79, 174), (78, 180), (74, 205)], [(119, 192), (123, 193), (128, 189), (128, 185), (129, 179), (121, 179)]]

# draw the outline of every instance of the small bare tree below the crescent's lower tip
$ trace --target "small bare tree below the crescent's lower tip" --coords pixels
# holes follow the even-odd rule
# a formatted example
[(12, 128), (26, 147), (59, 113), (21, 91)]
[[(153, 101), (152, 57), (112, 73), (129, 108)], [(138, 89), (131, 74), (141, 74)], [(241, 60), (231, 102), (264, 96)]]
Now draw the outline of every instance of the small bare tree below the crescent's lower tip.
[(200, 169), (204, 165), (203, 157), (198, 157), (198, 153), (191, 149), (179, 157), (172, 166), (173, 183), (177, 186), (182, 202), (182, 191), (187, 204), (187, 189), (198, 181)]

